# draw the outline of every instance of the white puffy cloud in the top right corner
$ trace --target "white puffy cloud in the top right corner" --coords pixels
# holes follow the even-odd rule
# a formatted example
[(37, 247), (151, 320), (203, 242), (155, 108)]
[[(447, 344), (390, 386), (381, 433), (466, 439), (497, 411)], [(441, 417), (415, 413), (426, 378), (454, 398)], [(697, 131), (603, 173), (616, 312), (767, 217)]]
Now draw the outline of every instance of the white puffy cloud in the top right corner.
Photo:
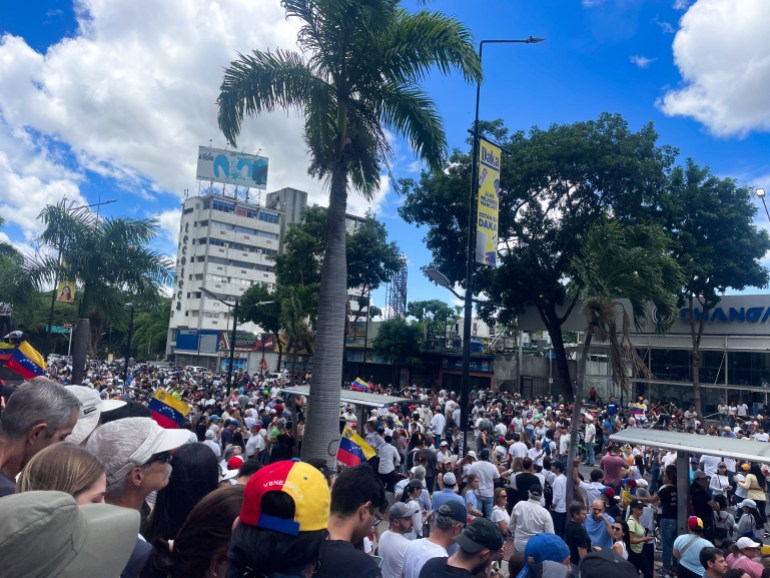
[(692, 117), (721, 137), (770, 130), (769, 26), (766, 0), (693, 4), (674, 40), (683, 85), (659, 101), (663, 112)]

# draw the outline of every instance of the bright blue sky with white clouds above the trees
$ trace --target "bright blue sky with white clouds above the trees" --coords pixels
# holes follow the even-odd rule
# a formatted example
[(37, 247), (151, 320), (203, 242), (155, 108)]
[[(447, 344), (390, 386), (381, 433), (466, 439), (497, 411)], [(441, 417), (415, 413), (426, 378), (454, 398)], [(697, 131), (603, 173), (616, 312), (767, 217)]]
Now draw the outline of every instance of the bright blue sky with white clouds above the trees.
[[(407, 3), (414, 7), (417, 3)], [(487, 45), (481, 117), (511, 130), (622, 114), (652, 121), (660, 143), (740, 184), (770, 188), (770, 11), (766, 0), (435, 0)], [(34, 246), (46, 204), (117, 200), (108, 215), (153, 216), (156, 248), (176, 251), (179, 202), (197, 191), (198, 145), (224, 146), (216, 127), (221, 71), (237, 52), (291, 48), (296, 23), (278, 0), (31, 0), (0, 3), (0, 236)], [(452, 147), (466, 147), (475, 87), (434, 75)], [(419, 163), (395, 143), (393, 174)], [(268, 190), (294, 186), (324, 203), (306, 175), (301, 121), (271, 114), (244, 125), (239, 147), (270, 158)], [(409, 300), (445, 298), (420, 272), (423, 232), (397, 215), (383, 177), (371, 203), (409, 262)], [(768, 227), (764, 210), (757, 224)], [(383, 305), (384, 291), (375, 294)]]

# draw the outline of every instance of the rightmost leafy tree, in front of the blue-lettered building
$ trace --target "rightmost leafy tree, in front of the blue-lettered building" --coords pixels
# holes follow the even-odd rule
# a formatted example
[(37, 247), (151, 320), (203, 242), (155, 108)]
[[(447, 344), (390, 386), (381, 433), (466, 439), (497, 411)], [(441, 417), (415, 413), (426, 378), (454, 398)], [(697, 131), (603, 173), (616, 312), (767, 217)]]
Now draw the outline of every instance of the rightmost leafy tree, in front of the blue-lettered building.
[(767, 285), (768, 272), (760, 260), (770, 250), (770, 239), (754, 225), (752, 191), (712, 175), (692, 160), (674, 170), (663, 208), (674, 255), (684, 272), (677, 293), (679, 306), (689, 311), (693, 402), (700, 412), (704, 321), (728, 288)]

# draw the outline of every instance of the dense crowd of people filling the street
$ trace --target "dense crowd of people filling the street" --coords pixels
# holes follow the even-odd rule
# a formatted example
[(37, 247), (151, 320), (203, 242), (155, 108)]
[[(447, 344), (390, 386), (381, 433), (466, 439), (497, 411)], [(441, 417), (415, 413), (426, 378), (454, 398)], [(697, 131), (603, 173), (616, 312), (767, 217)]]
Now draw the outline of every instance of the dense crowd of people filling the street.
[[(379, 388), (406, 401), (340, 408), (340, 428), (376, 456), (330, 468), (299, 461), (308, 408), (281, 394), (286, 375), (238, 372), (228, 393), (222, 375), (136, 366), (124, 386), (120, 370), (95, 363), (73, 385), (54, 366), (4, 400), (3, 574), (770, 577), (761, 464), (697, 456), (682, 497), (675, 452), (609, 443), (629, 427), (767, 441), (764, 413), (739, 415), (738, 402), (707, 427), (694, 408), (641, 396), (623, 406), (592, 392), (573, 415), (556, 398), (474, 391), (465, 448), (453, 392)], [(152, 419), (159, 387), (190, 405), (184, 427)]]

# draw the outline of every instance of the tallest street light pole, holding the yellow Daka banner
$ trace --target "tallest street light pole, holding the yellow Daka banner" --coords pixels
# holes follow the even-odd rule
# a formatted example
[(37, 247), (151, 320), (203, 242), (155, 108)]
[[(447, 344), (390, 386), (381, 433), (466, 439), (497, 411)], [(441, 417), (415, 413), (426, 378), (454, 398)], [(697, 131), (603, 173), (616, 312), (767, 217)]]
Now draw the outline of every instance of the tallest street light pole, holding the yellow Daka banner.
[[(544, 38), (530, 36), (523, 40), (501, 39), (479, 42), (479, 63), (483, 66), (485, 44), (536, 44)], [(468, 450), (468, 403), (471, 390), (471, 323), (473, 323), (473, 270), (476, 249), (476, 194), (479, 181), (479, 104), (481, 81), (476, 83), (476, 109), (473, 117), (473, 152), (471, 157), (471, 190), (468, 202), (468, 247), (465, 274), (465, 311), (463, 316), (463, 373), (460, 384), (460, 429), (463, 435), (464, 451)]]

